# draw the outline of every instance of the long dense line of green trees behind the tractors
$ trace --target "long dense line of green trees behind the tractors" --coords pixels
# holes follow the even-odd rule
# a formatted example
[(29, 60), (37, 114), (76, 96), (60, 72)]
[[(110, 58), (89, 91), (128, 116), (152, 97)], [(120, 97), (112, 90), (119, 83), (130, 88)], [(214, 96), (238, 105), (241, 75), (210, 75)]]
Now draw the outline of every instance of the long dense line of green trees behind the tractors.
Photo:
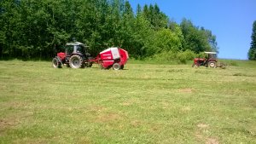
[(89, 45), (92, 55), (118, 46), (136, 59), (218, 51), (210, 30), (186, 19), (177, 24), (157, 4), (133, 11), (124, 0), (0, 1), (1, 58), (49, 59), (72, 41)]

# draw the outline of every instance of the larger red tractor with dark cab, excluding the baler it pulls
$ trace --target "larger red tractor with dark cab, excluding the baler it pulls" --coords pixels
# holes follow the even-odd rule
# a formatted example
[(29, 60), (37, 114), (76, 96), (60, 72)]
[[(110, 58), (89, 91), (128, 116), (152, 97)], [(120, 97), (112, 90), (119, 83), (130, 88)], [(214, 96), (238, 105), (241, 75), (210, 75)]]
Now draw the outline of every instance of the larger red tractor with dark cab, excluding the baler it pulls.
[(70, 66), (71, 68), (83, 68), (91, 66), (90, 54), (87, 53), (87, 46), (83, 43), (67, 43), (65, 52), (60, 52), (52, 60), (52, 65), (55, 68), (61, 68), (62, 65)]

